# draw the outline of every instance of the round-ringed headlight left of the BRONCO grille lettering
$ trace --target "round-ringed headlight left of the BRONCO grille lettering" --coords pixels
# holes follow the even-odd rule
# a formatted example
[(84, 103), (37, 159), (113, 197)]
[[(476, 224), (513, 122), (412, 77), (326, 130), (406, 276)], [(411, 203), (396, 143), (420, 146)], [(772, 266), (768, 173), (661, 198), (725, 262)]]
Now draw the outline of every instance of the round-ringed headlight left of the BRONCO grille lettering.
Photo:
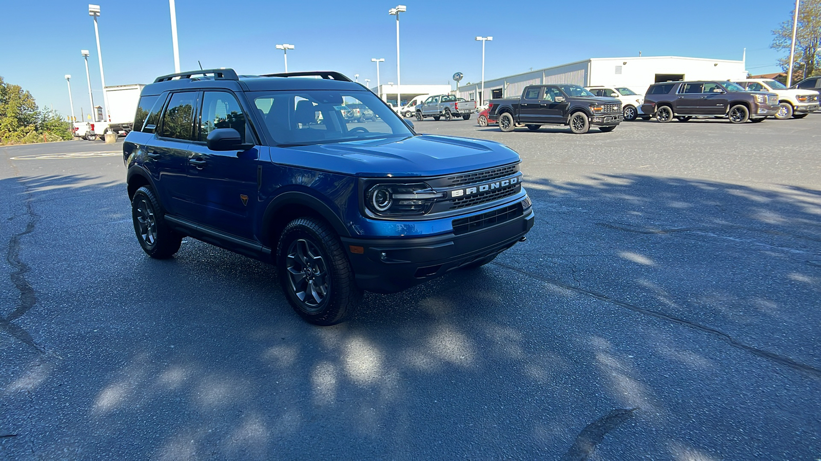
[(424, 214), (444, 196), (424, 183), (378, 184), (365, 192), (365, 206), (383, 216)]

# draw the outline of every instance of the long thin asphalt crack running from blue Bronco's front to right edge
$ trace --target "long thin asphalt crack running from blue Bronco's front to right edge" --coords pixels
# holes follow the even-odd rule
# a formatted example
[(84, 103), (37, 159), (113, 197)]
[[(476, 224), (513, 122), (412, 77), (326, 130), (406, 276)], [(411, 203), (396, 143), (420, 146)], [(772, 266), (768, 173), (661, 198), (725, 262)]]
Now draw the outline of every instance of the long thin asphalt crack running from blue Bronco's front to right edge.
[(732, 345), (733, 347), (736, 347), (738, 349), (745, 350), (746, 352), (749, 352), (750, 354), (754, 354), (754, 355), (756, 355), (760, 358), (765, 358), (765, 359), (769, 360), (770, 362), (777, 363), (777, 364), (782, 365), (784, 367), (792, 368), (793, 370), (805, 373), (806, 375), (809, 375), (810, 377), (821, 378), (821, 368), (813, 367), (812, 365), (807, 365), (806, 363), (800, 363), (799, 361), (797, 361), (794, 358), (786, 357), (786, 356), (783, 356), (783, 355), (780, 355), (780, 354), (775, 354), (773, 352), (769, 352), (769, 351), (764, 350), (764, 349), (759, 349), (757, 347), (747, 345), (745, 343), (742, 343), (740, 340), (736, 340), (731, 335), (728, 335), (727, 333), (725, 333), (723, 331), (719, 331), (719, 330), (716, 330), (714, 328), (710, 328), (709, 326), (701, 325), (700, 323), (696, 323), (696, 322), (690, 322), (689, 320), (685, 320), (683, 318), (675, 317), (675, 316), (672, 316), (672, 315), (669, 315), (669, 314), (666, 314), (666, 313), (660, 313), (658, 311), (654, 311), (653, 309), (642, 308), (641, 306), (637, 306), (635, 304), (626, 303), (625, 301), (621, 301), (619, 299), (612, 298), (611, 296), (608, 296), (607, 294), (597, 293), (597, 292), (592, 291), (592, 290), (585, 290), (584, 288), (576, 287), (576, 286), (564, 283), (562, 281), (553, 280), (553, 279), (550, 279), (550, 278), (545, 277), (545, 276), (539, 276), (538, 274), (532, 274), (530, 272), (527, 272), (527, 271), (524, 271), (524, 270), (520, 269), (519, 267), (508, 266), (504, 262), (494, 261), (492, 263), (495, 264), (496, 266), (504, 267), (504, 268), (509, 269), (513, 272), (518, 272), (523, 276), (529, 276), (529, 277), (534, 278), (536, 280), (544, 281), (545, 283), (548, 283), (548, 284), (553, 285), (553, 286), (557, 286), (558, 288), (563, 288), (565, 290), (575, 291), (576, 293), (585, 294), (585, 295), (587, 295), (591, 298), (599, 299), (601, 301), (605, 301), (605, 302), (610, 303), (610, 304), (616, 304), (617, 306), (629, 309), (629, 310), (631, 310), (635, 313), (644, 314), (644, 315), (647, 315), (647, 316), (650, 316), (650, 317), (656, 317), (656, 318), (665, 320), (667, 322), (676, 323), (677, 325), (686, 326), (688, 328), (691, 328), (691, 329), (694, 329), (694, 330), (697, 330), (697, 331), (701, 331), (703, 333), (708, 333), (709, 335), (713, 335), (714, 337), (716, 337), (718, 340), (722, 340), (722, 341), (726, 342), (728, 345)]

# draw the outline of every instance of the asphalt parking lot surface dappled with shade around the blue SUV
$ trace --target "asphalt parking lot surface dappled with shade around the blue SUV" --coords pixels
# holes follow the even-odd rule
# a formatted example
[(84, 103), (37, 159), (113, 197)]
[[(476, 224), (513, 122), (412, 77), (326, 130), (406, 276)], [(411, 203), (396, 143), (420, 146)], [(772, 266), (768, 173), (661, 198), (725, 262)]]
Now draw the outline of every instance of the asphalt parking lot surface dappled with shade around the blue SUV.
[(0, 147), (0, 459), (821, 459), (821, 115), (502, 133), (493, 263), (310, 326), (140, 249), (122, 143)]

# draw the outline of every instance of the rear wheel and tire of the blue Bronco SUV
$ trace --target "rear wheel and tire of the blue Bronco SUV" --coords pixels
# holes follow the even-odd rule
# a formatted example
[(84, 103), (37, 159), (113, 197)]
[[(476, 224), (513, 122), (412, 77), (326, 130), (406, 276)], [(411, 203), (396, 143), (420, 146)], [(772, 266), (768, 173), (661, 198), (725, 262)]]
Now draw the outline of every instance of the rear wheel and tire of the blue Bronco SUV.
[(182, 235), (167, 226), (163, 208), (148, 186), (140, 187), (134, 193), (131, 220), (134, 221), (134, 233), (140, 247), (151, 258), (171, 258), (180, 249)]

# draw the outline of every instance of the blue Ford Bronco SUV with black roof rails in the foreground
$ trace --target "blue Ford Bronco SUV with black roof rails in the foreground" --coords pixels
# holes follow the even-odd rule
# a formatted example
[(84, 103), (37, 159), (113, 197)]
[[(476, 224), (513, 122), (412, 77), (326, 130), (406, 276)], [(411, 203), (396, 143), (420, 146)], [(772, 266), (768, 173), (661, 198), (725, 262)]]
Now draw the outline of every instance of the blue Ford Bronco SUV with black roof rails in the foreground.
[(337, 72), (158, 77), (123, 159), (145, 253), (170, 258), (190, 236), (271, 262), (319, 325), (350, 317), (363, 290), (482, 266), (534, 221), (516, 152), (417, 135)]

